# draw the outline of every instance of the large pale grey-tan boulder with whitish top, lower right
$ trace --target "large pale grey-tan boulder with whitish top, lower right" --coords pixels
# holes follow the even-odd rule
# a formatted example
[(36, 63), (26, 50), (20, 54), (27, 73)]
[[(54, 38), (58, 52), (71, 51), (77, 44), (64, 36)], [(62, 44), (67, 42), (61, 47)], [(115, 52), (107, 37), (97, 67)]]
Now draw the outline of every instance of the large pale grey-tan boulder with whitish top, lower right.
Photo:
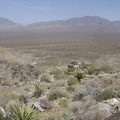
[[(119, 104), (120, 102), (113, 98), (110, 100), (105, 100), (101, 103), (97, 103), (96, 105), (91, 106), (87, 109), (84, 113), (80, 114), (81, 120), (103, 120), (111, 114), (116, 113), (119, 110)], [(78, 117), (78, 116), (77, 116)], [(73, 120), (77, 120), (73, 119)], [(109, 120), (109, 119), (108, 119)], [(113, 120), (113, 119), (110, 119)], [(119, 119), (115, 119), (119, 120)]]

